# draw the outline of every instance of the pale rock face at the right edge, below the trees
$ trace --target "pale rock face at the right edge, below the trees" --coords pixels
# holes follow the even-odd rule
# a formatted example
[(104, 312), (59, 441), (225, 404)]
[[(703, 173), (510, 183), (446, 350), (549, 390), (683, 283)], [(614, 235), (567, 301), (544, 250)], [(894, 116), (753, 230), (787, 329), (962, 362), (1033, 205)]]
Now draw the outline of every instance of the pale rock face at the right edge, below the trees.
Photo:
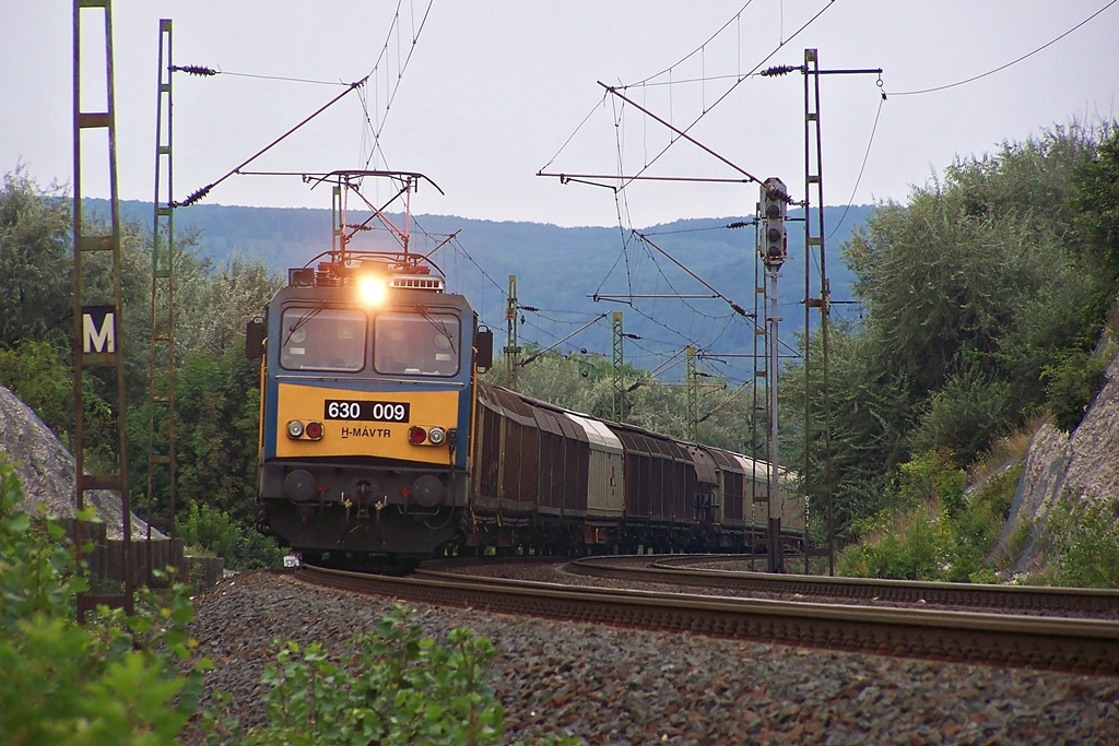
[[(1004, 542), (1019, 519), (1044, 522), (1056, 501), (1119, 498), (1119, 356), (1111, 360), (1107, 383), (1072, 434), (1046, 423), (1026, 454)], [(1025, 569), (1032, 548), (1019, 559)]]

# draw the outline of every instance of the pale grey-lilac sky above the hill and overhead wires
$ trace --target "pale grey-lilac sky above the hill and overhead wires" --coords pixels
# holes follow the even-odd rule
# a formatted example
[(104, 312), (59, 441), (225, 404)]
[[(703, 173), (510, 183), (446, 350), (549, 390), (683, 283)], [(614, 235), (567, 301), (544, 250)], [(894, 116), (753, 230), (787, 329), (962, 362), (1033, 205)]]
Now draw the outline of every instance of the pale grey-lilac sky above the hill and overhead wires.
[[(91, 12), (87, 111), (104, 105), (102, 21)], [(881, 77), (819, 77), (828, 205), (904, 201), (958, 157), (1119, 116), (1115, 0), (115, 0), (123, 199), (154, 193), (160, 18), (173, 22), (173, 64), (222, 70), (173, 76), (178, 200), (346, 91), (339, 83), (370, 73), (244, 170), (419, 171), (442, 193), (422, 186), (413, 211), (490, 220), (642, 227), (752, 215), (755, 185), (648, 180), (614, 192), (537, 172), (744, 172), (777, 176), (800, 197), (803, 77), (751, 73), (801, 65), (808, 48), (822, 70), (882, 68)], [(0, 2), (0, 172), (22, 164), (40, 186), (73, 181), (72, 66), (72, 3)], [(619, 92), (632, 103), (599, 82), (626, 86)], [(950, 87), (929, 91), (941, 86)], [(718, 158), (671, 142), (634, 104)], [(83, 138), (88, 196), (107, 196), (98, 136)], [(387, 187), (373, 189), (376, 197)], [(298, 177), (235, 174), (205, 201), (329, 208), (330, 195)]]

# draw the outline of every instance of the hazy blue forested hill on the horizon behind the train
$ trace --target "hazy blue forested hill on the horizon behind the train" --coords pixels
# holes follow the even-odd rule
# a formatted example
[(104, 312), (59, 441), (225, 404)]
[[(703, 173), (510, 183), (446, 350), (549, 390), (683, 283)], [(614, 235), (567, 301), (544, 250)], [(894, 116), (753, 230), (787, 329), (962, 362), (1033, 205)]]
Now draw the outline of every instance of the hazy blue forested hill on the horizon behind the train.
[[(106, 211), (104, 202), (90, 200), (94, 210)], [(124, 201), (125, 219), (151, 224), (152, 207), (148, 202)], [(843, 207), (825, 210), (825, 227), (829, 247), (828, 276), (833, 299), (850, 300), (852, 274), (839, 261), (838, 246), (855, 226), (865, 223), (871, 206)], [(792, 334), (803, 324), (803, 223), (802, 210), (793, 210), (789, 224), (790, 259), (782, 273), (780, 295), (784, 321), (781, 336)], [(746, 310), (753, 309), (754, 229), (725, 226), (743, 221), (741, 216), (676, 220), (639, 228), (657, 246), (687, 266)], [(517, 221), (474, 220), (453, 216), (421, 215), (413, 217), (413, 248), (427, 252), (443, 237), (459, 232), (455, 240), (433, 255), (448, 274), (451, 290), (466, 294), (490, 325), (505, 327), (505, 294), (508, 276), (517, 276), (521, 305), (542, 310), (545, 319), (534, 312), (525, 314), (528, 325), (524, 340), (551, 344), (595, 314), (621, 310), (626, 330), (647, 339), (662, 340), (661, 350), (679, 347), (684, 338), (698, 340), (700, 346), (722, 351), (742, 351), (752, 343), (747, 323), (728, 324), (723, 319), (732, 314), (721, 300), (690, 300), (685, 305), (665, 300), (634, 301), (636, 309), (617, 302), (587, 298), (605, 294), (709, 294), (688, 277), (670, 259), (645, 242), (626, 235), (617, 227), (563, 228), (555, 225)], [(303, 266), (330, 248), (330, 210), (227, 207), (196, 205), (175, 214), (176, 233), (197, 233), (201, 255), (223, 261), (239, 254), (263, 257), (274, 270)], [(422, 234), (433, 236), (427, 238)], [(623, 236), (626, 247), (623, 251)], [(369, 240), (363, 236), (366, 240)], [(374, 237), (378, 246), (392, 248), (388, 237)], [(556, 312), (562, 312), (560, 317)], [(857, 314), (853, 306), (838, 305), (836, 313)], [(567, 325), (552, 323), (563, 319)], [(713, 336), (712, 324), (720, 337)], [(533, 329), (533, 327), (536, 329)], [(666, 329), (667, 328), (667, 329)], [(576, 338), (571, 347), (584, 347), (600, 352), (609, 350), (609, 324)]]

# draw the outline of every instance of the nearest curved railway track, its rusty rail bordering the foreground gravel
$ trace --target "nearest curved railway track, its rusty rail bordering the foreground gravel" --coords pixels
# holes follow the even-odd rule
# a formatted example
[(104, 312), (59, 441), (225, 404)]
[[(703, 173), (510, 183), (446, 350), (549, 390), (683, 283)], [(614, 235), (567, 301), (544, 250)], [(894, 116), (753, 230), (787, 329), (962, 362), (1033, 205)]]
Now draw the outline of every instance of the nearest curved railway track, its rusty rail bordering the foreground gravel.
[(464, 576), (304, 567), (304, 582), (495, 613), (887, 655), (1119, 674), (1119, 624), (1093, 618), (697, 596)]

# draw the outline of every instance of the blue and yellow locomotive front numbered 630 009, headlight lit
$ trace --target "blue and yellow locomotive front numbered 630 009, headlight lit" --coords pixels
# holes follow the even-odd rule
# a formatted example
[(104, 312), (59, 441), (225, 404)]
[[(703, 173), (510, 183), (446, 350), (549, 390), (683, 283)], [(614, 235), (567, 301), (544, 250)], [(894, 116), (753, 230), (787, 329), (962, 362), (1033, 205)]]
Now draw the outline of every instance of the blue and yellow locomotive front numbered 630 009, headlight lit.
[(492, 350), (466, 299), (426, 266), (327, 263), (289, 273), (263, 336), (271, 529), (304, 554), (430, 556), (457, 541), (476, 367)]

